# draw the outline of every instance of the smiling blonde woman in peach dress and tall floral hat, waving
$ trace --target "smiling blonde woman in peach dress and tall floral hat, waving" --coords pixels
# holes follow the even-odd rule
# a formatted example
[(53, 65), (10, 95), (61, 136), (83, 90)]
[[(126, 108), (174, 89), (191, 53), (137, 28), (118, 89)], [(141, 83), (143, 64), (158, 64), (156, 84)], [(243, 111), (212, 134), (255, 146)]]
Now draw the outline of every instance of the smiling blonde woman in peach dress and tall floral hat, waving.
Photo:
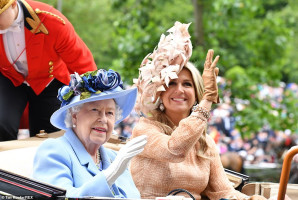
[(176, 22), (141, 65), (136, 109), (144, 117), (132, 137), (147, 136), (148, 142), (131, 162), (135, 184), (146, 199), (178, 188), (195, 199), (265, 199), (248, 197), (232, 187), (215, 142), (206, 134), (211, 106), (219, 103), (219, 56), (213, 60), (213, 50), (208, 51), (201, 76), (188, 62), (192, 52), (188, 26)]

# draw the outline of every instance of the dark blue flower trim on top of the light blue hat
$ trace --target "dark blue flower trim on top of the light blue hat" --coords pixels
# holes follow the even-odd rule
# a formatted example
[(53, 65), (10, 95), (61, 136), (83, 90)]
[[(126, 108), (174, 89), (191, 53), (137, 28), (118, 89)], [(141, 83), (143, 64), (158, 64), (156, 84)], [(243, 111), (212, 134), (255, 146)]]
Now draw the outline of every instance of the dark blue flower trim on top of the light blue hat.
[(99, 94), (118, 86), (123, 89), (121, 76), (111, 69), (108, 71), (98, 69), (82, 75), (75, 72), (70, 75), (69, 85), (62, 86), (58, 90), (58, 99), (62, 102), (61, 107), (63, 107), (68, 105), (75, 96), (80, 96), (80, 100), (83, 100), (91, 97), (92, 94)]

